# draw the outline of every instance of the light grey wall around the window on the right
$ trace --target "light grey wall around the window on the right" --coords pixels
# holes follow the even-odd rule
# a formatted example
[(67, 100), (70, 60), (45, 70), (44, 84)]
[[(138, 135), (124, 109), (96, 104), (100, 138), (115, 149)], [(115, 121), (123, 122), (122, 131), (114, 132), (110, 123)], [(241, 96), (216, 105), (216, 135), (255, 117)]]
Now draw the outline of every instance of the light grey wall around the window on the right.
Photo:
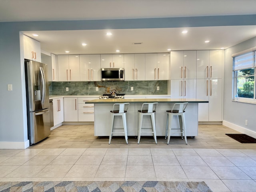
[[(256, 37), (225, 50), (224, 65), (224, 121), (256, 132), (256, 105), (232, 101), (232, 54), (256, 46)], [(248, 120), (248, 126), (245, 126)]]

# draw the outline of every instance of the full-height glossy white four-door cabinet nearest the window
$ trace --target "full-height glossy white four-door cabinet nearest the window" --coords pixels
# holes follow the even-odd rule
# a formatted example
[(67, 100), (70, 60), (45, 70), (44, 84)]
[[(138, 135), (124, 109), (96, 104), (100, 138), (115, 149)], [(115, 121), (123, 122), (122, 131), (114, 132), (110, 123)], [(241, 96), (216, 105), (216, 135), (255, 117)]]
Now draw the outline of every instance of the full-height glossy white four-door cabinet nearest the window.
[(198, 105), (198, 121), (222, 121), (223, 50), (197, 51), (196, 98), (209, 103)]

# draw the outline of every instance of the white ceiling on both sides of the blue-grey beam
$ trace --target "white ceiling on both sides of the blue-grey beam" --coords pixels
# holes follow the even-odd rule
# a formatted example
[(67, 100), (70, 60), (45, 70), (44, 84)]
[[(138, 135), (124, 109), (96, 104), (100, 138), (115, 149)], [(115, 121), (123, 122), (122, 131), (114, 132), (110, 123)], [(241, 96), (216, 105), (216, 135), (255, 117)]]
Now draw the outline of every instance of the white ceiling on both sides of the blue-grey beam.
[[(255, 0), (0, 0), (0, 22), (99, 20), (256, 14)], [(182, 34), (182, 30), (188, 30)], [(36, 31), (24, 34), (54, 54), (167, 52), (228, 48), (256, 36), (256, 26)], [(37, 33), (38, 37), (32, 34)], [(210, 40), (208, 44), (205, 40)], [(82, 42), (87, 45), (81, 46)], [(142, 45), (134, 45), (142, 42)]]

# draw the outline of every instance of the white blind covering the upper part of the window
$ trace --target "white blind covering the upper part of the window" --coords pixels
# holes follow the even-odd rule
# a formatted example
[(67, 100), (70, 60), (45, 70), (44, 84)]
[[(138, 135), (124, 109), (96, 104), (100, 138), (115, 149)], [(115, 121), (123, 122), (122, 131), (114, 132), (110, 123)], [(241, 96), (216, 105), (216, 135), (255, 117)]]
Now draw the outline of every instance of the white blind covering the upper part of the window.
[(248, 52), (234, 58), (234, 71), (254, 67), (254, 52)]

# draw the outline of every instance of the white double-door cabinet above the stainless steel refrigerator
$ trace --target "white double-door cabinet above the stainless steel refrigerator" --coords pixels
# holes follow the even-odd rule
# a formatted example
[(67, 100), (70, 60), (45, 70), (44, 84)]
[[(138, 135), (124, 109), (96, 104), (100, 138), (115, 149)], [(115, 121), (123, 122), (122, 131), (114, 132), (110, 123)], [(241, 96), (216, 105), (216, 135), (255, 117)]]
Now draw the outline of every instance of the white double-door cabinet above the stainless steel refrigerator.
[(41, 44), (40, 42), (23, 35), (24, 58), (41, 62)]

